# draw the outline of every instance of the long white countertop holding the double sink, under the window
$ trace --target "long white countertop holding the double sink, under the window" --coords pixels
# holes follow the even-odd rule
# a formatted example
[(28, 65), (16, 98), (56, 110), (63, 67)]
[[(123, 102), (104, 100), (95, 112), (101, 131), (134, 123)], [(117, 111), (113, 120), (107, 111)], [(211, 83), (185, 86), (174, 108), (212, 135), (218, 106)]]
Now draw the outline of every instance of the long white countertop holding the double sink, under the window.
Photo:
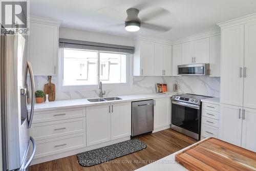
[[(112, 101), (101, 101), (101, 102), (90, 102), (88, 99), (74, 99), (74, 100), (56, 100), (49, 103), (40, 103), (35, 104), (34, 111), (47, 111), (54, 109), (63, 109), (63, 108), (77, 108), (84, 106), (92, 106), (99, 104), (110, 104), (117, 102), (129, 102), (129, 101), (140, 101), (140, 100), (150, 100), (164, 97), (171, 97), (177, 94), (176, 92), (169, 92), (168, 94), (164, 93), (151, 93), (151, 94), (135, 94), (135, 95), (124, 95), (124, 96), (115, 96), (121, 98), (121, 100), (112, 100)], [(106, 98), (106, 97), (103, 97)]]

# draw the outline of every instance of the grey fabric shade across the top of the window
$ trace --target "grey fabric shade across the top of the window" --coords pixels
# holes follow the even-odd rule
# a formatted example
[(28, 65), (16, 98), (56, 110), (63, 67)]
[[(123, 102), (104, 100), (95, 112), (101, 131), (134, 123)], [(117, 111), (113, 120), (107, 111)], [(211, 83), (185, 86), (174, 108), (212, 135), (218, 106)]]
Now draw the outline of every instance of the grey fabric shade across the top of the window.
[(66, 38), (59, 38), (60, 48), (70, 49), (84, 49), (84, 50), (96, 50), (96, 51), (108, 51), (108, 52), (120, 52), (120, 53), (134, 53), (134, 47), (103, 44), (92, 41), (72, 40)]

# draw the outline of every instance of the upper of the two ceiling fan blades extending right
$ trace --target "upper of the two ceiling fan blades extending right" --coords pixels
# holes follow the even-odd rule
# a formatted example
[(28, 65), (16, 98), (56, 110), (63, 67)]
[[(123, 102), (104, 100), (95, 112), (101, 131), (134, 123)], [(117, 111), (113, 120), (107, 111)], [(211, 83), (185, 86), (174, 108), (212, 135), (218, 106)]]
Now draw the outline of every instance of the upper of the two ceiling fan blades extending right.
[(155, 9), (154, 11), (147, 13), (144, 16), (140, 16), (140, 20), (142, 22), (147, 22), (148, 20), (151, 20), (151, 19), (155, 19), (155, 18), (163, 17), (163, 16), (171, 16), (171, 15), (172, 15), (172, 13), (170, 13), (168, 10), (159, 7), (157, 9)]

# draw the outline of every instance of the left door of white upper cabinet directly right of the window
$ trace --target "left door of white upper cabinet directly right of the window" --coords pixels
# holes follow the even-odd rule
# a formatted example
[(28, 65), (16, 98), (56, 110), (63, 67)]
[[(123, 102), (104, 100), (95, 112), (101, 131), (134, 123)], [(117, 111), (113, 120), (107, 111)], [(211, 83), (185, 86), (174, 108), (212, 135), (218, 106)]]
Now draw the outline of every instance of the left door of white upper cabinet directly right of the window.
[(141, 40), (141, 75), (154, 75), (154, 42)]

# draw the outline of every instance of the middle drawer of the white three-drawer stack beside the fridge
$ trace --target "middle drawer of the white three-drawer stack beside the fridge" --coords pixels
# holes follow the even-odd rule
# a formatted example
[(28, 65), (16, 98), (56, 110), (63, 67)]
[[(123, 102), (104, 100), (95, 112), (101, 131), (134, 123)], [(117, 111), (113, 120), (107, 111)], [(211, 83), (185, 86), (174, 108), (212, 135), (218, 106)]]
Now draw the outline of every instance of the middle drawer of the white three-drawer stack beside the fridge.
[(35, 140), (86, 132), (86, 117), (52, 122), (33, 123), (30, 134)]

